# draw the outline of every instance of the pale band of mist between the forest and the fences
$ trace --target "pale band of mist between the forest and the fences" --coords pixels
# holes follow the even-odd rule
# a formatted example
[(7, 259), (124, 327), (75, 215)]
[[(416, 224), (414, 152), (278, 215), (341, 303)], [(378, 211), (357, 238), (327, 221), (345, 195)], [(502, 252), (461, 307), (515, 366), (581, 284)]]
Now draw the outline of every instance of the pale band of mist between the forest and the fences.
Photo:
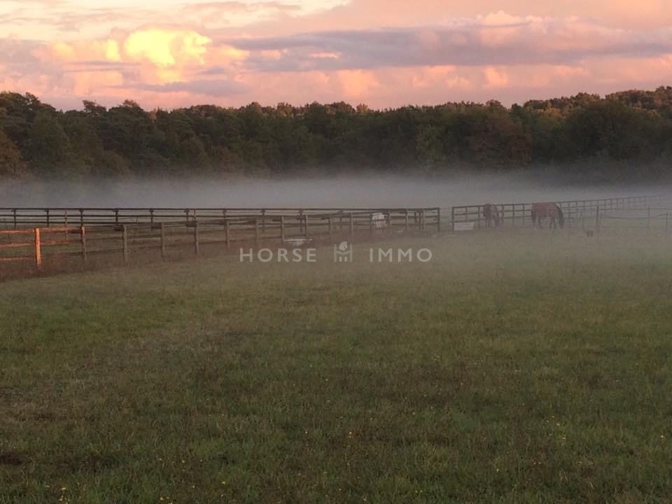
[(3, 181), (0, 207), (451, 207), (461, 204), (660, 195), (662, 185), (575, 184), (511, 172), (428, 178), (367, 175), (294, 179)]

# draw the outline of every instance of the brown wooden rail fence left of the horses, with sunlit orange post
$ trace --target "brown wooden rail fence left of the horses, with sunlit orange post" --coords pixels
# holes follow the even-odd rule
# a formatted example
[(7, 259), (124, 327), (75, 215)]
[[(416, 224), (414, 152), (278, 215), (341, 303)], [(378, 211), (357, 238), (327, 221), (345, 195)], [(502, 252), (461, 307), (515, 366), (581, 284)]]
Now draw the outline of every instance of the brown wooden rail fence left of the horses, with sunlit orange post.
[[(16, 212), (17, 216), (30, 215)], [(45, 216), (45, 214), (40, 214)], [(179, 221), (173, 214), (141, 214), (136, 211), (118, 212), (120, 223), (85, 221), (84, 225), (55, 225), (51, 219), (32, 228), (27, 221), (18, 221), (15, 229), (0, 230), (0, 263), (30, 262), (42, 269), (45, 260), (78, 256), (83, 262), (94, 254), (116, 253), (128, 262), (134, 251), (160, 250), (165, 257), (170, 248), (193, 247), (196, 255), (202, 247), (213, 244), (275, 244), (297, 246), (321, 239), (365, 239), (392, 232), (438, 232), (441, 230), (441, 211), (438, 208), (376, 209), (353, 211), (322, 211), (301, 209), (284, 211), (244, 210), (227, 211), (227, 217), (215, 218), (213, 214), (185, 212)], [(64, 215), (64, 214), (59, 214)], [(113, 218), (116, 218), (116, 216)], [(124, 223), (130, 216), (153, 218), (154, 221)], [(87, 214), (94, 218), (97, 214)]]

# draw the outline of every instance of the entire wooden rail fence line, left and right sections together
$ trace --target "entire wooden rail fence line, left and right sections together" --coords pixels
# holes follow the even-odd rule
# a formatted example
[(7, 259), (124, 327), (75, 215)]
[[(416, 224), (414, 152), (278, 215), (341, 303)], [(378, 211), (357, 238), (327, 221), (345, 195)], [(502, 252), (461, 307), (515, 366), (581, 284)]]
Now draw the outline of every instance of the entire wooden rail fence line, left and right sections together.
[[(601, 228), (618, 221), (652, 229), (664, 223), (666, 236), (672, 211), (657, 210), (659, 196), (602, 198), (556, 202), (572, 221), (587, 219)], [(532, 203), (498, 204), (502, 224), (531, 223)], [(449, 230), (482, 228), (484, 204), (450, 207)], [(624, 210), (647, 211), (625, 216)], [(445, 210), (444, 210), (445, 211)], [(444, 213), (445, 215), (445, 213)], [(627, 226), (619, 225), (620, 228)], [(5, 229), (1, 229), (5, 228)], [(66, 258), (86, 263), (92, 255), (113, 255), (126, 263), (134, 253), (154, 249), (162, 258), (175, 248), (254, 244), (301, 246), (322, 239), (356, 241), (395, 232), (441, 232), (442, 209), (170, 209), (170, 208), (5, 208), (0, 209), (0, 264), (24, 262), (42, 269)], [(332, 241), (333, 242), (333, 241)]]

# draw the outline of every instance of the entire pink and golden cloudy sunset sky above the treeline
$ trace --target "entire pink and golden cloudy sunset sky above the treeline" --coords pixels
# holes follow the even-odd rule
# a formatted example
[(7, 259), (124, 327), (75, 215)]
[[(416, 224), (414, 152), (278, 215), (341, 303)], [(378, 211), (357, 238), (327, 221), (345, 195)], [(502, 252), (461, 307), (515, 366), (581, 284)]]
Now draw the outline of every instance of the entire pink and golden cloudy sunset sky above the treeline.
[(671, 83), (670, 0), (0, 0), (0, 90), (59, 109), (510, 105)]

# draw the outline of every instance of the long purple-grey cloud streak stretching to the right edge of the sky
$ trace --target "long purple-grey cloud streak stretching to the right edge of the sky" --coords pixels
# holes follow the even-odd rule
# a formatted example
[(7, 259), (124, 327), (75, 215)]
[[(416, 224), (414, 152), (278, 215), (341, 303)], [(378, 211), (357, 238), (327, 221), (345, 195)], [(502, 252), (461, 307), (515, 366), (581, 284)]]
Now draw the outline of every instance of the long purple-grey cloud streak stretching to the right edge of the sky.
[[(672, 30), (614, 29), (575, 18), (521, 18), (499, 12), (434, 27), (321, 31), (226, 42), (250, 52), (251, 64), (264, 71), (575, 64), (593, 57), (667, 54), (672, 52)], [(260, 57), (271, 51), (281, 57)]]

